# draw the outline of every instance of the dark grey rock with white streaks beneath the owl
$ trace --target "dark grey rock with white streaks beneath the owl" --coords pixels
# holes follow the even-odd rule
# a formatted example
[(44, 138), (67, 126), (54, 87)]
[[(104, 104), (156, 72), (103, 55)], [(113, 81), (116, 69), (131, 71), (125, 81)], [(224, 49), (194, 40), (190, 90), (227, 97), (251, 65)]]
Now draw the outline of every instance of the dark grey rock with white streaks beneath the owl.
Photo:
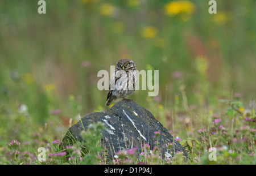
[[(90, 113), (81, 118), (81, 121), (71, 126), (64, 136), (63, 147), (72, 145), (73, 138), (82, 141), (81, 131), (86, 130), (90, 123), (98, 121), (105, 123), (106, 126), (106, 130), (102, 132), (101, 146), (108, 149), (110, 160), (120, 150), (136, 147), (140, 152), (146, 143), (152, 150), (155, 147), (155, 131), (160, 131), (159, 149), (162, 156), (164, 157), (166, 152), (171, 153), (167, 148), (168, 143), (174, 142), (170, 132), (155, 119), (150, 111), (131, 100), (121, 100), (107, 111)], [(187, 152), (177, 141), (171, 150), (173, 154), (177, 151), (183, 152), (183, 155), (188, 158)]]

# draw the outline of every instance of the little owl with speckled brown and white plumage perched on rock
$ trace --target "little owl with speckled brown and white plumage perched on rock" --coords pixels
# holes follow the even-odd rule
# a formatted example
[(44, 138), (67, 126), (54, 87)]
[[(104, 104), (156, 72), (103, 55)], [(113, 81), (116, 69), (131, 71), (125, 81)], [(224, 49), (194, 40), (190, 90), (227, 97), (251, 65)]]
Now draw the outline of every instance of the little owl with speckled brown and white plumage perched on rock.
[(117, 99), (126, 99), (131, 95), (137, 84), (137, 71), (133, 60), (121, 59), (117, 62), (117, 68), (109, 81), (109, 91), (106, 106)]

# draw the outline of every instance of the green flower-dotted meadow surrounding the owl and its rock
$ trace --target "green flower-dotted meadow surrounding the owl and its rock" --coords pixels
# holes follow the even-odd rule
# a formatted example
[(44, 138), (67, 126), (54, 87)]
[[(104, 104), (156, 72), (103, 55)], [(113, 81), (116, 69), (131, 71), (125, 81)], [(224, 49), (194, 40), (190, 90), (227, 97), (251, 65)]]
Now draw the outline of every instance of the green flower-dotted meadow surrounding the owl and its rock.
[[(2, 2), (0, 164), (86, 164), (79, 143), (70, 156), (44, 163), (36, 153), (64, 152), (52, 141), (80, 117), (108, 109), (97, 72), (125, 57), (138, 70), (159, 70), (157, 97), (136, 91), (129, 98), (150, 110), (191, 160), (160, 160), (145, 149), (140, 161), (131, 154), (118, 163), (255, 164), (256, 2), (220, 1), (212, 15), (207, 1), (191, 0), (193, 10), (177, 6), (182, 11), (168, 15), (170, 2), (56, 0), (47, 1), (46, 14), (38, 14), (36, 1)], [(12, 140), (20, 144), (8, 147)], [(210, 147), (217, 161), (209, 160)], [(106, 164), (101, 159), (91, 161)]]

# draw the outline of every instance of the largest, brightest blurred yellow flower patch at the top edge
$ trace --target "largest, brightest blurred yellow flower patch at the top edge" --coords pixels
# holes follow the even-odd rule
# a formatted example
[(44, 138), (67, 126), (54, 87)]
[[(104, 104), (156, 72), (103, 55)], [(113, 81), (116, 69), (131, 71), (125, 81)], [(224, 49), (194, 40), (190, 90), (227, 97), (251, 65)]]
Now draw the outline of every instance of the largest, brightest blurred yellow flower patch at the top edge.
[(193, 14), (195, 5), (190, 1), (172, 1), (164, 5), (166, 15)]

